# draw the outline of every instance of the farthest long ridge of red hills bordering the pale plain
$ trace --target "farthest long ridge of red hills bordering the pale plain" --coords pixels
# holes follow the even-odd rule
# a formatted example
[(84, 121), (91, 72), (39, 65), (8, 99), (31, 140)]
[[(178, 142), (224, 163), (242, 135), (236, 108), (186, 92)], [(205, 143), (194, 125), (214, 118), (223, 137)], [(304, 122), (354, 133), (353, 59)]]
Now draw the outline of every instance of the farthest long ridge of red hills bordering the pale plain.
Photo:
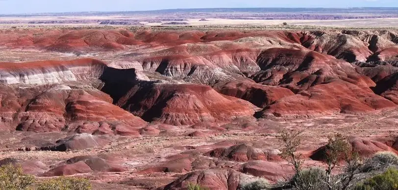
[[(366, 43), (341, 32), (286, 32), (286, 31), (162, 31), (130, 32), (127, 30), (2, 30), (0, 45), (8, 47), (41, 47), (56, 51), (121, 50), (131, 45), (180, 45), (184, 43), (235, 41), (248, 37), (260, 37), (269, 42), (302, 44), (311, 50), (327, 53), (338, 58), (358, 57), (364, 61), (371, 55)], [(338, 43), (336, 43), (337, 39)], [(334, 50), (334, 51), (333, 51)], [(344, 52), (349, 52), (346, 55)]]

